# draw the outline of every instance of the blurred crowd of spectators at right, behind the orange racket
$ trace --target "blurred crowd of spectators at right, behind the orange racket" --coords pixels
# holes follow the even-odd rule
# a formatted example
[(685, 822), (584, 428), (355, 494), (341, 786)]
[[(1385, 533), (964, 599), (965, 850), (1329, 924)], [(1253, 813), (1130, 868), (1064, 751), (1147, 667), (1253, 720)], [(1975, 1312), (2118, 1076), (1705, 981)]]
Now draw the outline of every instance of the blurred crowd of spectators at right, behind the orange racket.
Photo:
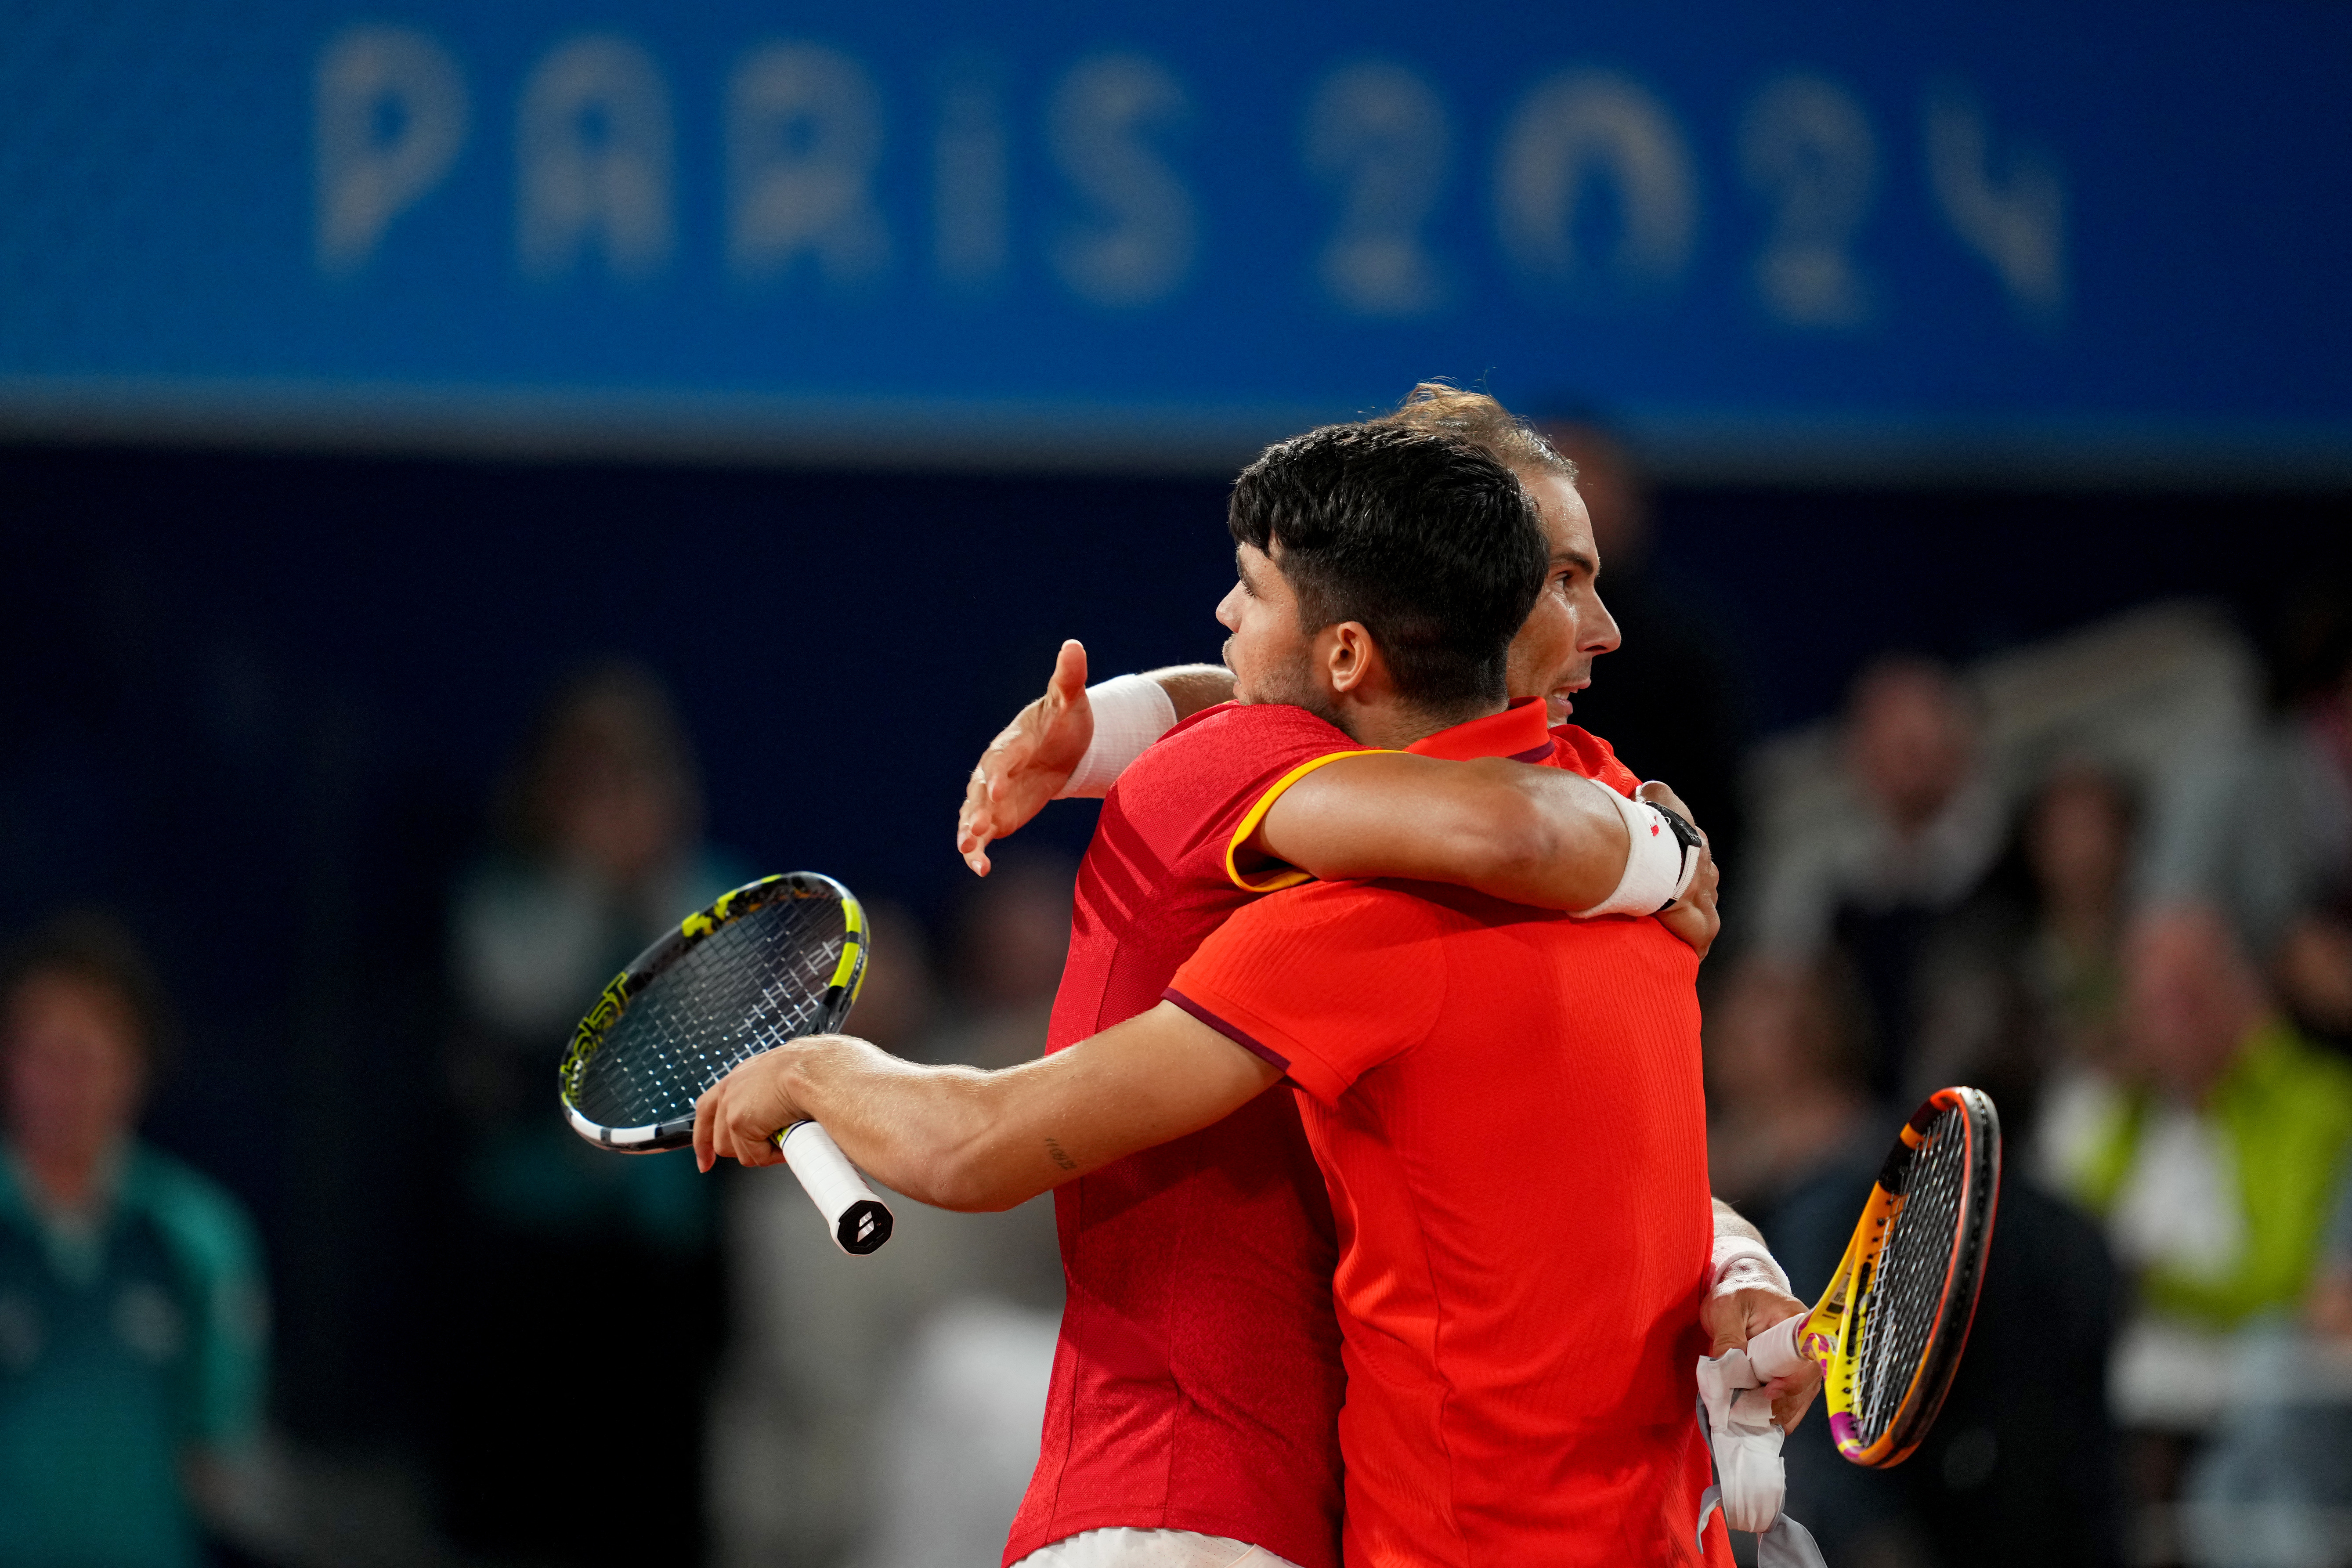
[(1790, 1441), (1830, 1561), (2352, 1561), (2352, 623), (2159, 604), (1889, 656), (1748, 759), (1717, 1192), (1802, 1295), (1896, 1119), (1999, 1105), (1971, 1352), (1896, 1472)]

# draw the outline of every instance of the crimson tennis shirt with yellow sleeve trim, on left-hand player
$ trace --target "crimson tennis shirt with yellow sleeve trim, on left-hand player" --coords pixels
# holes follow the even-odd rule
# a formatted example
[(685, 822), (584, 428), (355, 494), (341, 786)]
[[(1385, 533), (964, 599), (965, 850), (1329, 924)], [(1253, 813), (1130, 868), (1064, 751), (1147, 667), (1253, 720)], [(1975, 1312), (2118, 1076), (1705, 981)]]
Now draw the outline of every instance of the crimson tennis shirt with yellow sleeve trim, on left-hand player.
[[(1287, 705), (1221, 705), (1150, 748), (1103, 802), (1077, 872), (1047, 1048), (1157, 1006), (1202, 938), (1305, 882), (1232, 863), (1291, 783), (1362, 752)], [(1552, 762), (1630, 795), (1604, 741), (1519, 703), (1411, 750)], [(1004, 1563), (1110, 1526), (1230, 1535), (1338, 1568), (1343, 1396), (1322, 1168), (1289, 1093), (1054, 1194), (1068, 1298), (1037, 1472)], [(1705, 1253), (1705, 1248), (1700, 1248)]]

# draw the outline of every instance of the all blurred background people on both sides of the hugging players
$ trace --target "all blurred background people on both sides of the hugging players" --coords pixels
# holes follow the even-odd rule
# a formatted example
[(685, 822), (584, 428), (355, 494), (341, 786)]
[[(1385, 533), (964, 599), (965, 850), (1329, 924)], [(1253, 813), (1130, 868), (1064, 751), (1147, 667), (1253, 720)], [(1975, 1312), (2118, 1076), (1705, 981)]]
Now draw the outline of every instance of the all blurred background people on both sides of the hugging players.
[[(1625, 625), (1578, 722), (1726, 867), (1717, 1192), (1813, 1295), (1926, 1091), (1976, 1084), (2006, 1131), (1943, 1420), (1896, 1472), (1809, 1420), (1790, 1512), (1839, 1568), (2352, 1563), (2352, 607), (2314, 599), (2267, 658), (2201, 604), (1884, 656), (1835, 717), (1745, 745), (1625, 454), (1559, 440)], [(1051, 1206), (901, 1201), (851, 1260), (779, 1173), (574, 1138), (553, 1065), (602, 983), (788, 867), (706, 842), (689, 736), (630, 663), (550, 696), (485, 816), (447, 898), (430, 1561), (995, 1561), (1061, 1309)], [(946, 853), (946, 804), (910, 832)], [(875, 903), (851, 1032), (1033, 1056), (1070, 877), (1014, 844), (929, 922)], [(113, 917), (0, 969), (0, 1563), (341, 1561), (270, 1481), (254, 1225), (136, 1133), (172, 1037)]]

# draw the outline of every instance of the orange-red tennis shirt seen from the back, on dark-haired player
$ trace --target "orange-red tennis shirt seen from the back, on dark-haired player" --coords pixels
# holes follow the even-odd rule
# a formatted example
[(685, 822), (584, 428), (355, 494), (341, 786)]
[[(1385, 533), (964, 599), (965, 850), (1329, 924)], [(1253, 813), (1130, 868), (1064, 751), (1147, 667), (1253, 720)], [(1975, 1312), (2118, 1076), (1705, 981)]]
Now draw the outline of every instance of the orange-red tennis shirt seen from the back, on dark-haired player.
[(1698, 957), (1653, 919), (1343, 882), (1167, 997), (1284, 1067), (1338, 1227), (1348, 1568), (1729, 1563), (1691, 1363)]

